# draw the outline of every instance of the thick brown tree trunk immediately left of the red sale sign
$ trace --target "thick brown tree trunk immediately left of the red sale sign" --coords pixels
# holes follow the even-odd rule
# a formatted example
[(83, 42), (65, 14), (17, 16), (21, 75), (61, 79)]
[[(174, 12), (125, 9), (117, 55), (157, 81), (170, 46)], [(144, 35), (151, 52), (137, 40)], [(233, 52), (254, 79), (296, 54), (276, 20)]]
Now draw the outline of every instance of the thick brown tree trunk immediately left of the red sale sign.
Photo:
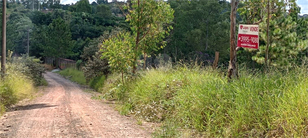
[(236, 29), (236, 0), (231, 0), (231, 25), (230, 25), (230, 64), (228, 68), (228, 78), (237, 78), (236, 68), (236, 42), (235, 42), (235, 29)]

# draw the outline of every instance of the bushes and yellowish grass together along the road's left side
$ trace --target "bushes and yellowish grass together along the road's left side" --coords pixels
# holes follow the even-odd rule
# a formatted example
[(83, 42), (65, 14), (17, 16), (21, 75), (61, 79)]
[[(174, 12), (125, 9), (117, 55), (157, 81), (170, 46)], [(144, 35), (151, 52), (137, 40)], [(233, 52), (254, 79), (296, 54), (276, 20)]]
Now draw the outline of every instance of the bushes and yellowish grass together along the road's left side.
[(6, 75), (0, 78), (0, 113), (6, 112), (7, 107), (34, 94), (35, 86), (47, 86), (43, 79), (45, 68), (39, 59), (22, 55), (13, 58), (13, 52), (8, 52)]

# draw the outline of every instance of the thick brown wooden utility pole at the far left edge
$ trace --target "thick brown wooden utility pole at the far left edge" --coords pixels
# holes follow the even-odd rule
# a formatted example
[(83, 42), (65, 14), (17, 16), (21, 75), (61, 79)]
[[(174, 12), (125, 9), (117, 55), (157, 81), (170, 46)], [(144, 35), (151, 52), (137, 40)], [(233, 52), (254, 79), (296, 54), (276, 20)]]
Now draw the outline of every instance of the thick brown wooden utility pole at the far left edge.
[(1, 45), (1, 71), (5, 75), (6, 63), (6, 0), (2, 0), (2, 45)]

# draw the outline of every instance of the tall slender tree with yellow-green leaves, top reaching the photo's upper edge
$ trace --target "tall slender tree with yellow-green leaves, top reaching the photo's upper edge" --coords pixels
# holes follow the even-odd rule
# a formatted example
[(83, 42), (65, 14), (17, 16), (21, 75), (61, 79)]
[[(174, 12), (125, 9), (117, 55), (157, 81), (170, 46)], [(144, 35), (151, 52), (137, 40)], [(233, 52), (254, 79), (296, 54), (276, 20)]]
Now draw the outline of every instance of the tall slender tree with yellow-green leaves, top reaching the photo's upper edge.
[[(162, 41), (165, 34), (168, 34), (166, 30), (172, 29), (171, 25), (167, 25), (166, 28), (163, 27), (172, 22), (174, 10), (162, 0), (135, 0), (131, 1), (131, 4), (131, 7), (125, 6), (124, 10), (128, 9), (129, 11), (126, 18), (130, 22), (135, 37), (136, 56), (143, 52), (144, 57), (146, 57), (149, 51), (159, 49), (156, 44)], [(136, 59), (137, 57), (134, 58), (135, 63)], [(135, 72), (136, 65), (133, 66), (133, 73), (135, 74)]]

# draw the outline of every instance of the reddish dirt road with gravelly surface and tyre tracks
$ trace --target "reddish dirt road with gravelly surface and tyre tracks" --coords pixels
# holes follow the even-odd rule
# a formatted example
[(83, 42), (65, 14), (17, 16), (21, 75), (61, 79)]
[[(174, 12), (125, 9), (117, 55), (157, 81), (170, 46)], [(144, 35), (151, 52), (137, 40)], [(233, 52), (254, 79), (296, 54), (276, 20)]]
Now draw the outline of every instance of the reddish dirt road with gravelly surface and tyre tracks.
[(1, 117), (1, 138), (150, 137), (150, 130), (91, 99), (75, 82), (47, 72), (43, 96), (13, 107)]

